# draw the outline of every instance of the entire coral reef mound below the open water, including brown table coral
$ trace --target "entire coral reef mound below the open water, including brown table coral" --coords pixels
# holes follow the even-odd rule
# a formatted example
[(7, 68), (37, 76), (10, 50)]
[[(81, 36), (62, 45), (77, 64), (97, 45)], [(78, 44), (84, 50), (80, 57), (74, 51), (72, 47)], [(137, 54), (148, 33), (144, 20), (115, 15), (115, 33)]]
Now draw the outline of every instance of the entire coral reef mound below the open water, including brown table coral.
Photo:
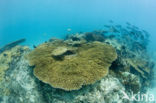
[(0, 103), (140, 103), (123, 97), (152, 87), (155, 63), (147, 37), (136, 27), (106, 25), (50, 39), (34, 50), (19, 45), (4, 50)]

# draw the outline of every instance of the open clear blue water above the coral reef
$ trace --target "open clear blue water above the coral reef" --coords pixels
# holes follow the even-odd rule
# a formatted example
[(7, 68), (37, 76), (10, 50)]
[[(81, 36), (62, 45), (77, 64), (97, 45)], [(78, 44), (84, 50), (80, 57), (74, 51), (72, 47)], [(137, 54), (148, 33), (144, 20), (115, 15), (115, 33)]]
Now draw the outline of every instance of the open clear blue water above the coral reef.
[(0, 46), (20, 38), (37, 45), (71, 32), (101, 29), (109, 20), (156, 34), (155, 0), (0, 0)]

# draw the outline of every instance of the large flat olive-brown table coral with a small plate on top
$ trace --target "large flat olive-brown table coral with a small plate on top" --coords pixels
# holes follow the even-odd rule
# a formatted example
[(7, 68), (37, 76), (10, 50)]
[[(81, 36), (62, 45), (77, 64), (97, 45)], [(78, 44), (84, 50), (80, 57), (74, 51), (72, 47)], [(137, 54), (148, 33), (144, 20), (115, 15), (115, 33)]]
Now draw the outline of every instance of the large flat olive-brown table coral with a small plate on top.
[[(55, 59), (53, 53), (58, 48), (63, 59)], [(34, 75), (52, 87), (64, 90), (77, 90), (82, 85), (93, 84), (108, 74), (111, 63), (117, 58), (115, 49), (107, 44), (92, 42), (81, 47), (70, 49), (73, 53), (65, 53), (69, 49), (66, 43), (44, 43), (33, 50), (28, 59), (35, 66)], [(59, 55), (60, 56), (60, 55)]]

